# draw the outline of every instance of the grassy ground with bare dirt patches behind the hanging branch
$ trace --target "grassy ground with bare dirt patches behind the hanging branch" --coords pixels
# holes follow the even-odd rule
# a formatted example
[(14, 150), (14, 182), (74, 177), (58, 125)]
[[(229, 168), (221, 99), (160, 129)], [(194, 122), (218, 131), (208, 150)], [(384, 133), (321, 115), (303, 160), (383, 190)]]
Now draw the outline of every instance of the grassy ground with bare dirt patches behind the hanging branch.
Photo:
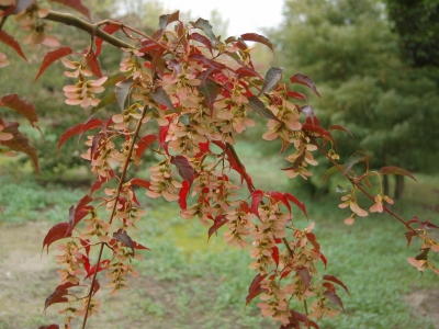
[[(275, 171), (275, 160), (262, 161), (251, 148), (238, 151), (258, 188), (291, 189)], [(407, 193), (394, 209), (405, 219), (417, 215), (435, 222), (438, 183), (431, 177), (419, 177), (418, 184), (407, 182)], [(23, 174), (3, 175), (0, 184), (0, 329), (37, 328), (52, 319), (61, 322), (56, 305), (48, 309), (48, 318), (42, 314), (57, 274), (53, 252), (40, 258), (41, 245), (47, 229), (67, 220), (69, 206), (87, 192), (56, 185), (42, 189)], [(338, 209), (339, 197), (331, 193), (307, 202), (309, 222), (316, 223), (315, 232), (329, 261), (326, 273), (339, 276), (351, 293), (340, 292), (346, 313), (319, 321), (320, 328), (435, 328), (430, 317), (438, 313), (434, 307), (438, 304), (431, 304), (439, 302), (434, 299), (439, 298), (438, 277), (420, 275), (406, 261), (419, 246), (406, 248), (404, 227), (387, 215), (346, 226), (342, 219), (348, 214)], [(296, 213), (296, 225), (307, 226)], [(255, 302), (245, 307), (254, 277), (248, 252), (225, 246), (221, 234), (207, 242), (205, 227), (178, 214), (175, 205), (149, 203), (149, 215), (136, 237), (151, 249), (137, 264), (142, 275), (130, 291), (114, 298), (101, 296), (103, 309), (90, 319), (90, 328), (279, 328), (260, 318)], [(415, 305), (414, 294), (426, 292), (426, 305)]]

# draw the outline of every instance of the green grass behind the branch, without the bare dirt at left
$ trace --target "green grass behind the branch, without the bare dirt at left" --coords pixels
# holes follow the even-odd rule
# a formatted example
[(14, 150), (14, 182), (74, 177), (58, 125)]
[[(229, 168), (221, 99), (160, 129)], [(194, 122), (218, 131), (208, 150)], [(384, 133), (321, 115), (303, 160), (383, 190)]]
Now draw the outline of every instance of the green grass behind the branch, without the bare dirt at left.
[[(263, 162), (248, 145), (238, 151), (255, 181), (261, 181), (258, 188), (289, 189), (289, 181), (274, 170), (279, 168), (277, 160)], [(417, 184), (407, 181), (405, 197), (393, 209), (405, 219), (417, 215), (423, 220), (435, 220), (439, 179), (418, 179)], [(29, 175), (1, 177), (0, 184), (0, 217), (5, 229), (27, 220), (67, 220), (69, 206), (87, 193), (56, 185), (43, 189)], [(149, 214), (133, 238), (150, 251), (143, 252), (145, 259), (137, 262), (142, 286), (133, 283), (132, 291), (115, 299), (123, 305), (120, 314), (105, 315), (114, 328), (126, 328), (124, 324), (144, 328), (145, 317), (148, 328), (279, 328), (260, 317), (258, 298), (245, 307), (248, 285), (255, 276), (248, 269), (251, 260), (247, 250), (227, 247), (222, 232), (207, 241), (207, 228), (196, 219), (181, 219), (178, 206), (153, 203), (142, 196), (143, 191), (138, 193)], [(318, 321), (320, 328), (434, 328), (428, 319), (414, 315), (404, 299), (414, 290), (437, 287), (437, 275), (420, 275), (406, 261), (417, 254), (418, 241), (406, 248), (403, 225), (385, 214), (358, 218), (353, 226), (346, 226), (342, 219), (349, 212), (337, 207), (339, 197), (330, 193), (307, 201), (309, 222), (295, 209), (296, 226), (316, 223), (315, 234), (328, 259), (326, 271), (320, 265), (323, 273), (337, 275), (350, 291), (347, 295), (339, 290), (346, 311)], [(438, 257), (432, 260), (439, 262)], [(42, 321), (38, 318), (33, 324)], [(93, 328), (93, 321), (90, 324)]]

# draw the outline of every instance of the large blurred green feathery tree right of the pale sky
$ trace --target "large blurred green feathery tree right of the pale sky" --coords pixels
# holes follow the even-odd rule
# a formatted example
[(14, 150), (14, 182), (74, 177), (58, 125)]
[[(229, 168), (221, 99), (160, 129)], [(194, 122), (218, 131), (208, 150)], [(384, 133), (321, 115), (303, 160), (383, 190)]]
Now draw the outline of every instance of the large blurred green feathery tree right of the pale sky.
[[(278, 63), (303, 68), (319, 84), (323, 99), (315, 107), (322, 120), (354, 132), (354, 139), (344, 138), (344, 157), (360, 148), (374, 156), (374, 167), (397, 160), (409, 170), (435, 170), (437, 155), (429, 150), (439, 147), (439, 71), (399, 60), (384, 3), (290, 0), (272, 36)], [(395, 197), (403, 184), (397, 179)]]

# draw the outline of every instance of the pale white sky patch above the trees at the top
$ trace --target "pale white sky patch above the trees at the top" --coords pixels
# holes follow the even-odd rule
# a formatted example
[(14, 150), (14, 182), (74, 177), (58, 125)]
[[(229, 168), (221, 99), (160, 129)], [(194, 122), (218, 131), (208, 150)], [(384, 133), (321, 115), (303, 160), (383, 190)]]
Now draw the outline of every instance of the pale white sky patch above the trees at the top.
[(282, 20), (283, 0), (159, 0), (165, 8), (191, 11), (192, 16), (209, 20), (217, 9), (229, 20), (228, 34), (259, 33), (260, 27), (274, 27)]

